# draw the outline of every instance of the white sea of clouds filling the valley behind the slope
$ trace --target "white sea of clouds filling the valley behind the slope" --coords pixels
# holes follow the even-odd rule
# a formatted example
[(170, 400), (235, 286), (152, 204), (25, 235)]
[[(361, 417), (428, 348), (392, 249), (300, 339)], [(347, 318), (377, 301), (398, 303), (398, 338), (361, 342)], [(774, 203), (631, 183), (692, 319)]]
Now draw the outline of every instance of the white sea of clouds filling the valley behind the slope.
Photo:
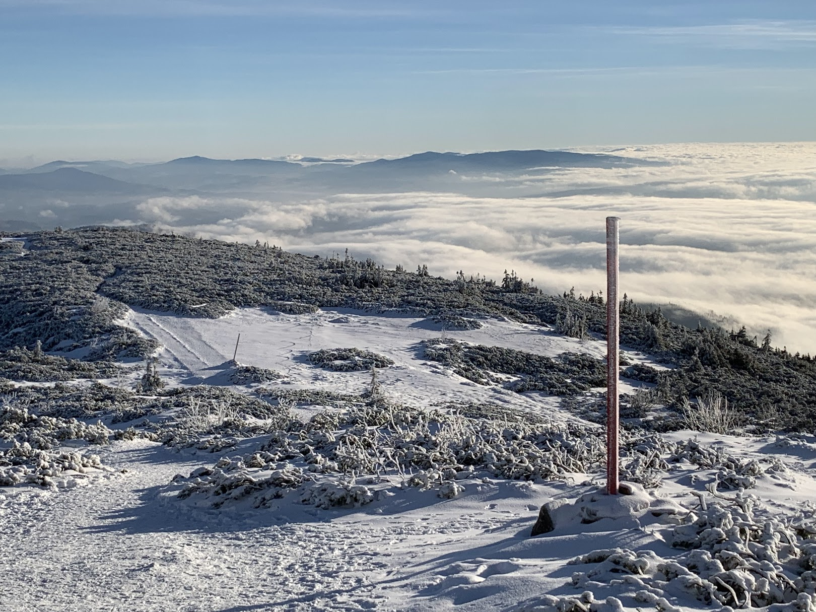
[(452, 175), (444, 193), (153, 197), (137, 209), (176, 232), (306, 254), (348, 248), (444, 277), (513, 269), (548, 292), (585, 294), (605, 287), (605, 217), (617, 215), (630, 297), (733, 316), (772, 330), (775, 345), (816, 353), (816, 144), (614, 154), (663, 164)]

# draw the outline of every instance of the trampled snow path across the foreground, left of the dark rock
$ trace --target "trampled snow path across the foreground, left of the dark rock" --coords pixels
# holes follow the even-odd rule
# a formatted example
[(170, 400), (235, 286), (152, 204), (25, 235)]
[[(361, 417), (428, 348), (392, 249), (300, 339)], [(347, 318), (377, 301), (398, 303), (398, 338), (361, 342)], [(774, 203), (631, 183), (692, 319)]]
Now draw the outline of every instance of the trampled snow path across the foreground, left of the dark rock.
[[(74, 490), (0, 490), (0, 611), (395, 612), (450, 610), (481, 597), (507, 604), (514, 595), (502, 597), (502, 576), (524, 564), (506, 556), (537, 556), (539, 548), (526, 533), (543, 487), (491, 485), (450, 501), (409, 490), (371, 513), (295, 504), (294, 516), (273, 508), (242, 514), (161, 493), (177, 472), (209, 465), (213, 455), (135, 440), (100, 456), (119, 473)], [(540, 585), (535, 565), (522, 579)]]

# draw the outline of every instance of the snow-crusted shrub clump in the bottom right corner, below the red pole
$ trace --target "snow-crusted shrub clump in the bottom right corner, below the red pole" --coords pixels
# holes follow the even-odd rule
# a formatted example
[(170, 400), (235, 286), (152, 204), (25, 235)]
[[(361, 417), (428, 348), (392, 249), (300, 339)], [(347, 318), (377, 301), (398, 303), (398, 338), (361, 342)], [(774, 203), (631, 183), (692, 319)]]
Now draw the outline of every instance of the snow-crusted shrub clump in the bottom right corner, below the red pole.
[[(747, 495), (700, 495), (698, 510), (672, 529), (672, 546), (685, 552), (667, 559), (648, 550), (593, 551), (570, 561), (593, 565), (574, 573), (572, 583), (577, 588), (623, 583), (635, 591), (635, 601), (659, 610), (684, 609), (678, 596), (731, 608), (809, 610), (816, 586), (816, 544), (808, 537), (813, 518), (804, 538), (796, 527), (777, 517), (757, 519)], [(578, 603), (591, 601), (582, 596)], [(580, 609), (565, 598), (549, 598), (548, 604)]]

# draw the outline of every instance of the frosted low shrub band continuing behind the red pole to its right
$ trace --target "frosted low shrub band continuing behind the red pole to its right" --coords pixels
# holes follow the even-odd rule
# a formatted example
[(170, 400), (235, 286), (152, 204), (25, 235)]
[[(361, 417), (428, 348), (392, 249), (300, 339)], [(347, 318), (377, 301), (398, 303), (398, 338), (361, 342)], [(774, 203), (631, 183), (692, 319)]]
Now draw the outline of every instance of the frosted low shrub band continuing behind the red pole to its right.
[[(651, 487), (660, 485), (668, 459), (691, 452), (654, 434), (624, 433), (622, 447), (622, 477)], [(417, 486), (450, 497), (483, 477), (548, 481), (596, 472), (604, 458), (600, 429), (554, 425), (501, 406), (424, 410), (380, 396), (271, 432), (257, 450), (221, 459), (177, 482), (182, 498), (216, 505), (242, 499), (268, 505), (291, 490), (331, 491), (330, 499), (344, 500), (330, 503), (323, 494), (303, 494), (312, 500), (304, 503), (325, 507), (370, 501), (366, 486), (372, 483)]]

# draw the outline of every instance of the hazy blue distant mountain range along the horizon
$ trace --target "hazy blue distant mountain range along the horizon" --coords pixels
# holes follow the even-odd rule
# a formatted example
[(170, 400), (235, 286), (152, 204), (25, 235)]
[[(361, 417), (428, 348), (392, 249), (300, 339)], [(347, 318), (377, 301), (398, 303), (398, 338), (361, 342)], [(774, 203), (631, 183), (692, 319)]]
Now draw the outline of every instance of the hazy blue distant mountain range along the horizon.
[[(53, 193), (73, 198), (107, 195), (145, 196), (219, 194), (285, 194), (321, 197), (331, 193), (379, 193), (391, 191), (442, 190), (474, 193), (478, 189), (501, 188), (480, 177), (502, 175), (512, 182), (532, 172), (553, 168), (615, 168), (652, 165), (639, 159), (605, 153), (575, 153), (542, 149), (489, 151), (485, 153), (438, 153), (426, 151), (396, 159), (354, 163), (347, 158), (299, 157), (282, 159), (214, 159), (193, 155), (168, 162), (127, 163), (116, 160), (66, 161), (58, 159), (28, 170), (0, 174), (0, 192), (7, 206), (16, 199), (32, 206), (31, 194), (39, 193), (44, 211), (51, 211), (43, 197)], [(457, 175), (475, 177), (468, 184)], [(499, 181), (501, 182), (501, 181)], [(468, 191), (469, 190), (469, 191)], [(481, 192), (487, 193), (487, 192)], [(523, 196), (525, 193), (516, 192)], [(18, 204), (19, 206), (19, 204)], [(2, 214), (3, 206), (0, 206)], [(53, 211), (51, 211), (53, 212)], [(46, 212), (45, 214), (49, 214)]]

